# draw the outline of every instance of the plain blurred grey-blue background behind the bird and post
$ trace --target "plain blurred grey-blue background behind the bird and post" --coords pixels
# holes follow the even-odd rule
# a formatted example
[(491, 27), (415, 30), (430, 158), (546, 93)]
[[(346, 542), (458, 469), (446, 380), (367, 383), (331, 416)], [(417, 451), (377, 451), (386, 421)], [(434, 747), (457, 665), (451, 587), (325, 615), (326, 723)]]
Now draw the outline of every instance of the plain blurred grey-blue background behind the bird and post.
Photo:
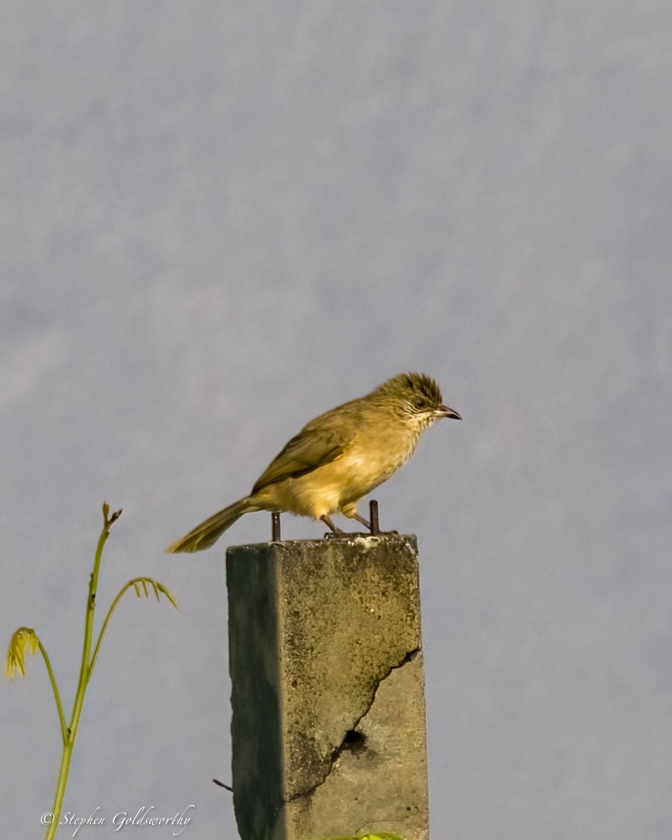
[[(3, 3), (0, 638), (69, 714), (103, 500), (98, 603), (181, 606), (113, 619), (80, 840), (189, 805), (236, 837), (223, 553), (270, 517), (162, 549), (404, 370), (464, 417), (375, 494), (420, 548), (433, 837), (669, 840), (670, 91), (668, 0)], [(39, 837), (39, 659), (0, 719)]]

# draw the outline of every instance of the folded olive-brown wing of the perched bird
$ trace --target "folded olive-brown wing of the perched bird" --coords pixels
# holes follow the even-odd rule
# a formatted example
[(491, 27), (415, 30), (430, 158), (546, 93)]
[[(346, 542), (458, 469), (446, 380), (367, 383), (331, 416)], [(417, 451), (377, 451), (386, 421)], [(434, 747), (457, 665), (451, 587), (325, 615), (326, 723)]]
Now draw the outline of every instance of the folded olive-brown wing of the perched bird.
[(352, 435), (332, 412), (316, 417), (302, 428), (285, 449), (270, 462), (257, 480), (252, 494), (287, 478), (299, 478), (339, 458), (348, 448)]

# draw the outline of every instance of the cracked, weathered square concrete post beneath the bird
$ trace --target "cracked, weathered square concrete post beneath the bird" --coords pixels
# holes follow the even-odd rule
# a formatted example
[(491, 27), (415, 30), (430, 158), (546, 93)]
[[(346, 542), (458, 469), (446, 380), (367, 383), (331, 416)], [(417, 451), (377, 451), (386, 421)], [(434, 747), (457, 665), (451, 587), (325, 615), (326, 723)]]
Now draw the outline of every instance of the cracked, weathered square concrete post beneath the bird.
[(413, 537), (228, 549), (243, 840), (428, 837)]

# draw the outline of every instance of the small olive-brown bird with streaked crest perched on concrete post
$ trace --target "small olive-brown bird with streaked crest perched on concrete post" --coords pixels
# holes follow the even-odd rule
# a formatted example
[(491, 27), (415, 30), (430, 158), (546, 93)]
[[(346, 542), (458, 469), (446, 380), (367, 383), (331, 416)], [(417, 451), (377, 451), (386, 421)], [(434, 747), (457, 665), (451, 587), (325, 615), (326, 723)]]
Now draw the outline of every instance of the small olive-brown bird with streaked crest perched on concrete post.
[(423, 432), (443, 417), (461, 420), (444, 405), (436, 381), (402, 373), (358, 399), (315, 417), (286, 444), (249, 496), (209, 517), (165, 549), (169, 554), (209, 549), (244, 513), (290, 512), (344, 532), (333, 514), (370, 522), (357, 503), (411, 457)]

